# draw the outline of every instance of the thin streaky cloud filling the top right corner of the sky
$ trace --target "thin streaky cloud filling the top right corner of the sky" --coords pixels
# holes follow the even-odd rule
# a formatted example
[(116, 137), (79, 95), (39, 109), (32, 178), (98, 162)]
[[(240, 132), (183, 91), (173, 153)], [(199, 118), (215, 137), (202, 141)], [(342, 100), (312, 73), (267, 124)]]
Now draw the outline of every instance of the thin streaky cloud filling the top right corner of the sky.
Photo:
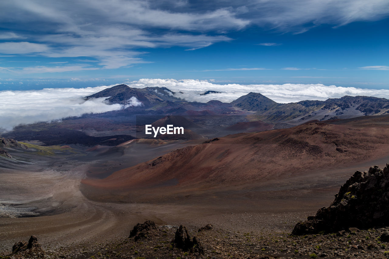
[[(260, 9), (253, 9), (260, 7)], [(251, 8), (252, 23), (282, 31), (304, 33), (321, 24), (342, 26), (355, 21), (376, 21), (387, 17), (387, 0), (275, 0), (258, 1)], [(310, 25), (307, 25), (310, 24)]]

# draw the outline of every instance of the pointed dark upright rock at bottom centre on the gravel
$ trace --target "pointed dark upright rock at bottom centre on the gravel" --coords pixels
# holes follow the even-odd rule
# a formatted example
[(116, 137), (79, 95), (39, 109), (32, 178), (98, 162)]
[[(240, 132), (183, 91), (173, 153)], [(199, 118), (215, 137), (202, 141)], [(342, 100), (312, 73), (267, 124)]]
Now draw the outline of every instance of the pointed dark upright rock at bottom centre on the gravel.
[(180, 248), (184, 251), (190, 251), (191, 253), (198, 253), (198, 254), (204, 254), (204, 248), (200, 240), (196, 238), (196, 236), (193, 237), (191, 240), (191, 237), (189, 236), (188, 230), (185, 226), (180, 225), (180, 227), (175, 232), (174, 239), (172, 240), (172, 244)]

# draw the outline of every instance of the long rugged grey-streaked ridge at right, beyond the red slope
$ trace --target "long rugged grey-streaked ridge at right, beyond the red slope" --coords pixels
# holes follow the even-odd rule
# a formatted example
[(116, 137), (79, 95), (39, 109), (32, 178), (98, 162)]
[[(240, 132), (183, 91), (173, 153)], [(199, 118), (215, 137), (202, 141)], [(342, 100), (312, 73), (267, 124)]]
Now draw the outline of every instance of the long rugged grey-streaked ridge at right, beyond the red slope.
[(343, 96), (326, 101), (299, 101), (258, 110), (258, 119), (301, 124), (311, 120), (347, 119), (363, 115), (389, 114), (389, 100), (370, 96)]

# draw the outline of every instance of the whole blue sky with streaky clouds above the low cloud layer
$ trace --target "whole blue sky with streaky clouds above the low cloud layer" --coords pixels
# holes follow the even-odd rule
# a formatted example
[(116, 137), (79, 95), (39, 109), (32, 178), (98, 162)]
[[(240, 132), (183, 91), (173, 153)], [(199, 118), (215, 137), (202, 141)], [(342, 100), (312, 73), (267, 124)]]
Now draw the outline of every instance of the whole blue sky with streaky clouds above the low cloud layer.
[(389, 89), (387, 0), (0, 2), (0, 90), (142, 78)]

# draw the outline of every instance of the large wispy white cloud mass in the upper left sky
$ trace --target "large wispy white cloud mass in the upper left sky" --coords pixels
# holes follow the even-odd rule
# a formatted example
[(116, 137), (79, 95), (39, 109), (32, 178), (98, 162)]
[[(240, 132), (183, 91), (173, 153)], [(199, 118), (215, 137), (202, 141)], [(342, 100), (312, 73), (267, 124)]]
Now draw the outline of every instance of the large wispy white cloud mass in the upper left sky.
[[(183, 3), (177, 7), (184, 7)], [(138, 57), (144, 53), (132, 51), (134, 48), (180, 46), (195, 50), (229, 41), (231, 39), (224, 35), (210, 36), (204, 32), (239, 30), (250, 23), (236, 17), (228, 7), (207, 12), (174, 11), (158, 9), (152, 3), (138, 0), (0, 1), (1, 21), (13, 23), (30, 41), (0, 44), (2, 54), (90, 57), (102, 68), (146, 63)], [(34, 32), (26, 32), (27, 26), (35, 28)], [(15, 35), (5, 34), (4, 37)]]

